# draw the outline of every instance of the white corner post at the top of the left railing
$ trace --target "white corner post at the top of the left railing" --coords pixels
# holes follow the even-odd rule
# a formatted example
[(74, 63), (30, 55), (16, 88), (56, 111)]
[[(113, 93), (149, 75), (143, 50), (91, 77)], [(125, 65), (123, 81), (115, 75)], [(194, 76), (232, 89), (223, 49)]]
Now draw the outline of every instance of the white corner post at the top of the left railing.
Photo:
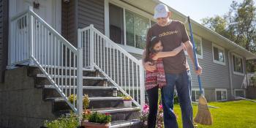
[[(29, 11), (33, 11), (33, 7), (29, 6)], [(33, 25), (34, 25), (34, 22), (33, 22), (33, 16), (31, 15), (31, 13), (29, 13), (29, 58), (30, 58), (30, 61), (29, 61), (29, 64), (34, 64), (34, 61), (31, 59), (31, 56), (34, 56), (33, 55), (33, 52), (34, 52), (34, 37), (33, 37), (33, 34), (34, 34), (34, 31), (33, 31)]]

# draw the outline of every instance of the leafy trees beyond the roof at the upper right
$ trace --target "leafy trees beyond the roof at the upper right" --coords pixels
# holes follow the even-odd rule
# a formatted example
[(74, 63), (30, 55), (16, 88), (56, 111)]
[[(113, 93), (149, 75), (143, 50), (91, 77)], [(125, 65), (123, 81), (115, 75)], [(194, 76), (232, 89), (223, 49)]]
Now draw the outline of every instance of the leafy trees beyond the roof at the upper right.
[[(253, 0), (233, 1), (227, 14), (203, 18), (202, 24), (256, 53), (256, 7)], [(246, 65), (248, 72), (255, 72), (254, 61), (247, 61)]]

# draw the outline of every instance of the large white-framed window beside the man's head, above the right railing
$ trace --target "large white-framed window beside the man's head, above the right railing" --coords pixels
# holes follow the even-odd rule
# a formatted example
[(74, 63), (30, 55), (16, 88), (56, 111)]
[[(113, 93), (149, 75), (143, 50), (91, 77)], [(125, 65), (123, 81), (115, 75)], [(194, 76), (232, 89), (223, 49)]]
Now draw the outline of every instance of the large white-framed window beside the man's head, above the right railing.
[(131, 53), (143, 53), (148, 28), (154, 25), (151, 15), (128, 5), (109, 4), (110, 39)]

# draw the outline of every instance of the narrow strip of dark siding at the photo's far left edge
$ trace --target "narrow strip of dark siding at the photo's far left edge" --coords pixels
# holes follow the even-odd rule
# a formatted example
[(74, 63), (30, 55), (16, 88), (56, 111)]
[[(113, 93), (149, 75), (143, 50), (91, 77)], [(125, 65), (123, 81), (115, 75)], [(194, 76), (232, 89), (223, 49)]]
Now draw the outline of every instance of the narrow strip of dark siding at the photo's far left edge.
[(4, 81), (4, 70), (7, 66), (8, 45), (8, 0), (0, 0), (0, 81)]

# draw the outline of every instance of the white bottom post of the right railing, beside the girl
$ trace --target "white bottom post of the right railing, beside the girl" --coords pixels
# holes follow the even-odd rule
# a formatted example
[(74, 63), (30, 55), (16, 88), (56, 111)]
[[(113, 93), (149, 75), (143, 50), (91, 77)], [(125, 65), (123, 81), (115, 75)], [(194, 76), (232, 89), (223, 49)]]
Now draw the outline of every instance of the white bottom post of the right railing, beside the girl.
[(140, 108), (143, 110), (145, 105), (145, 87), (144, 87), (144, 68), (142, 64), (142, 60), (140, 61)]

